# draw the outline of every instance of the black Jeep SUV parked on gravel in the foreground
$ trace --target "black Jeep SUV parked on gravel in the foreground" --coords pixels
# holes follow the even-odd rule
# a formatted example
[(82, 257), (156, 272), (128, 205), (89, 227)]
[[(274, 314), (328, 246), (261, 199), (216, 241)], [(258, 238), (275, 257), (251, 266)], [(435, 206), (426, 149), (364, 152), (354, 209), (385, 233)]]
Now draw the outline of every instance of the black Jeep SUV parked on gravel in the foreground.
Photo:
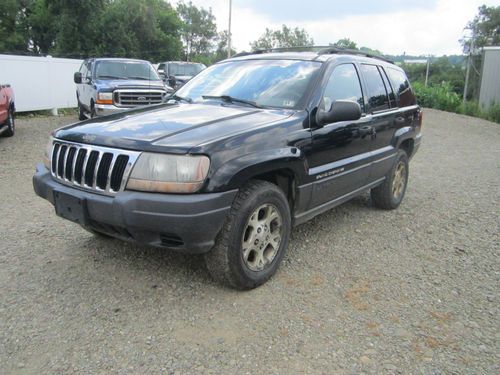
[(216, 279), (249, 289), (276, 272), (292, 226), (366, 190), (398, 207), (421, 125), (389, 61), (257, 51), (164, 104), (55, 131), (33, 182), (93, 233), (205, 253)]

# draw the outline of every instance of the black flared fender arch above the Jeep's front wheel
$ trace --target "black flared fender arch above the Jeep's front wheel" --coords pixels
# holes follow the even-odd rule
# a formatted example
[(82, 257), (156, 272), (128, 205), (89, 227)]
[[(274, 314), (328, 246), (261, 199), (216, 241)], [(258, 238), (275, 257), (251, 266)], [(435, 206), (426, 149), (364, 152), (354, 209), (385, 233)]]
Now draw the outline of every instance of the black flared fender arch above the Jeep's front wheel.
[(239, 189), (253, 177), (277, 170), (288, 171), (297, 181), (303, 181), (307, 173), (304, 155), (297, 147), (285, 147), (239, 156), (214, 171), (207, 190)]

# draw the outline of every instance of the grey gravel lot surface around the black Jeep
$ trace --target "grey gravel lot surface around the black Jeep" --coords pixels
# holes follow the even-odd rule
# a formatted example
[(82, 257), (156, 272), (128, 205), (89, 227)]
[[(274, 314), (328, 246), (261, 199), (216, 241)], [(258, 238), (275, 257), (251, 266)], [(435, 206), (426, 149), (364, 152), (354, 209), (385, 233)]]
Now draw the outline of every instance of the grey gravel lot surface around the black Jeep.
[(48, 133), (75, 120), (0, 139), (0, 372), (500, 372), (500, 125), (426, 110), (398, 210), (364, 194), (315, 218), (236, 292), (200, 256), (95, 238), (35, 196)]

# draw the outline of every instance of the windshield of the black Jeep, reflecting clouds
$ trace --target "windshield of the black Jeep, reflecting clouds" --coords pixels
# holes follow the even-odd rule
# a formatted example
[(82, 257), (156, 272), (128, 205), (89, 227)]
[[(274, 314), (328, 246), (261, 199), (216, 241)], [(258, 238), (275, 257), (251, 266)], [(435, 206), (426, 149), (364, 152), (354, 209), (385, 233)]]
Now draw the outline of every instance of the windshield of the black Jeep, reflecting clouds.
[(264, 107), (295, 108), (320, 67), (317, 61), (228, 61), (204, 70), (177, 94), (194, 101), (228, 95)]

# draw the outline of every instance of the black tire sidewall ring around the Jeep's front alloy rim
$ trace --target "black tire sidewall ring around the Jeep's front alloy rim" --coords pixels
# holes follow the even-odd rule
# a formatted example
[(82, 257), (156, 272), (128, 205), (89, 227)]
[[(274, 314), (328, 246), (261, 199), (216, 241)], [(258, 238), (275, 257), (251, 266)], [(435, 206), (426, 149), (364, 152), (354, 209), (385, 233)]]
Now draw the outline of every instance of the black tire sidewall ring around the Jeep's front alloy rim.
[[(257, 209), (257, 207), (266, 203), (274, 205), (280, 211), (283, 221), (283, 235), (278, 253), (273, 259), (271, 265), (262, 271), (252, 271), (245, 265), (243, 260), (241, 240), (250, 215), (255, 211), (255, 209)], [(233, 225), (231, 226), (227, 243), (229, 268), (231, 273), (239, 279), (238, 281), (240, 285), (246, 285), (250, 288), (255, 287), (264, 283), (276, 272), (288, 248), (290, 232), (290, 208), (285, 196), (282, 193), (280, 194), (279, 191), (274, 189), (261, 189), (244, 202), (244, 204), (240, 207), (238, 215), (235, 217)]]

